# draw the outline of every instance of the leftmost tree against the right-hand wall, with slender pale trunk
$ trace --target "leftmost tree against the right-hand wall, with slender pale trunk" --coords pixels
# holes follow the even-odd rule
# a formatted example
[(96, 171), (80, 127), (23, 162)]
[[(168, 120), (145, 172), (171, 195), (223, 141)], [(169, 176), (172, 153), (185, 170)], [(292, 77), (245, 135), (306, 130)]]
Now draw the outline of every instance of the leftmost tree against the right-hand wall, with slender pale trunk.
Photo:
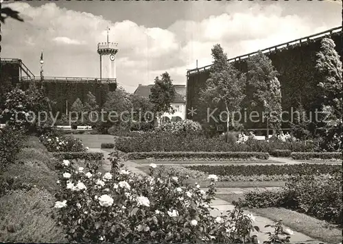
[(210, 77), (206, 81), (206, 88), (201, 90), (200, 97), (204, 103), (224, 105), (228, 132), (230, 117), (233, 118), (235, 112), (239, 112), (241, 101), (245, 97), (246, 77), (227, 61), (227, 55), (219, 44), (213, 46), (212, 57), (214, 62), (211, 66)]

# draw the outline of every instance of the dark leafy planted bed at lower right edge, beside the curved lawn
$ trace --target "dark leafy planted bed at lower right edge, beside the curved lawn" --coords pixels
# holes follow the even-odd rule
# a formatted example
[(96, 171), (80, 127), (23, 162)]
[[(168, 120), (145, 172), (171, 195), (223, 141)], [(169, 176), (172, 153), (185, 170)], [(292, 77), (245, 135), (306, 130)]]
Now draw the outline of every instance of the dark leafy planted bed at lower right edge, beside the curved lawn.
[(334, 175), (301, 175), (289, 180), (280, 191), (252, 191), (243, 206), (283, 207), (342, 226), (342, 171)]

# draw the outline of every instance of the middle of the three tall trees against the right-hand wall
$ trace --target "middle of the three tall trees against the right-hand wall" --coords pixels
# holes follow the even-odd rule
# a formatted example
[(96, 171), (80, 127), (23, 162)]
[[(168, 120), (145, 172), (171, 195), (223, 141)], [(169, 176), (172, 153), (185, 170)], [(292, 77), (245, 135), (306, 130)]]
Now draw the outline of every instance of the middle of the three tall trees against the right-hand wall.
[(279, 73), (274, 69), (272, 61), (261, 51), (247, 61), (248, 86), (252, 88), (252, 107), (263, 108), (267, 122), (267, 136), (269, 127), (281, 129), (281, 85), (277, 78)]

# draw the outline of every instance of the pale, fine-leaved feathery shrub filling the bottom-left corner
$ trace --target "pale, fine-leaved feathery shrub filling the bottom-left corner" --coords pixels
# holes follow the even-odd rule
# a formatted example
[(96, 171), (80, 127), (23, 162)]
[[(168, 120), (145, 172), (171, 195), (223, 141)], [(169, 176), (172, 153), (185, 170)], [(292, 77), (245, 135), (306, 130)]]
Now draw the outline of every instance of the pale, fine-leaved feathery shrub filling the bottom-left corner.
[(0, 198), (0, 239), (12, 243), (65, 243), (51, 214), (54, 197), (46, 190), (14, 191)]

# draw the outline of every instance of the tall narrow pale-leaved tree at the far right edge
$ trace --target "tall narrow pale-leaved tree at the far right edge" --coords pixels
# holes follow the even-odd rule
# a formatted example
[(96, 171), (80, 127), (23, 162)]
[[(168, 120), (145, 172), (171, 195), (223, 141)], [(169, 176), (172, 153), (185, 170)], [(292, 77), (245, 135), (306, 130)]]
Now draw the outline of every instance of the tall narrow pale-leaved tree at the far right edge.
[(324, 121), (324, 140), (322, 147), (327, 151), (342, 150), (342, 62), (335, 42), (331, 38), (323, 38), (320, 51), (317, 53), (316, 69), (322, 75), (322, 111), (329, 114)]

